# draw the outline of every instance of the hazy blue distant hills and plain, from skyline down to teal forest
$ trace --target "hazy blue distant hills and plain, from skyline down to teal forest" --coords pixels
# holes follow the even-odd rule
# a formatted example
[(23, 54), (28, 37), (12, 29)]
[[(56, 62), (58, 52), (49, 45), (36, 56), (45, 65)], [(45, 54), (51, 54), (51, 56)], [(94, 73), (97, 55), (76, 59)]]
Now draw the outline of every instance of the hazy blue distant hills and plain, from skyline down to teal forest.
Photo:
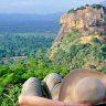
[(57, 31), (62, 13), (54, 14), (0, 14), (0, 32)]

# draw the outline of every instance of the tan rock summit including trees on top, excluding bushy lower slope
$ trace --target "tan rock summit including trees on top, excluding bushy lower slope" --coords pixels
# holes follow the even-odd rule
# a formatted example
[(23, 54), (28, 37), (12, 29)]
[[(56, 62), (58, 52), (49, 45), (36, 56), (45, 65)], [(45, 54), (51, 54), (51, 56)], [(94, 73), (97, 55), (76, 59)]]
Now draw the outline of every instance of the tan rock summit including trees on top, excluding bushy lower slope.
[[(92, 40), (105, 43), (106, 40), (106, 8), (100, 4), (86, 4), (70, 10), (60, 19), (61, 30), (51, 47), (50, 57), (56, 53), (57, 47), (66, 51), (72, 43), (93, 44)], [(76, 33), (76, 40), (66, 41), (68, 34)], [(71, 36), (71, 35), (70, 35)], [(71, 36), (72, 38), (72, 36)], [(74, 36), (72, 38), (74, 39)], [(63, 44), (66, 41), (68, 43)]]

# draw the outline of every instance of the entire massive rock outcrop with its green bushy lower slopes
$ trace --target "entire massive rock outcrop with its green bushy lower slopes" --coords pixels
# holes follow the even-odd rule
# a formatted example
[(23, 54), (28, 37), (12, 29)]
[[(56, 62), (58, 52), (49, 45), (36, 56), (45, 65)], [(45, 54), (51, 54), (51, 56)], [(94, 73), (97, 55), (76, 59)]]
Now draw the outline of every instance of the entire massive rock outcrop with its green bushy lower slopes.
[(94, 4), (71, 10), (60, 24), (49, 57), (68, 70), (106, 71), (106, 9)]

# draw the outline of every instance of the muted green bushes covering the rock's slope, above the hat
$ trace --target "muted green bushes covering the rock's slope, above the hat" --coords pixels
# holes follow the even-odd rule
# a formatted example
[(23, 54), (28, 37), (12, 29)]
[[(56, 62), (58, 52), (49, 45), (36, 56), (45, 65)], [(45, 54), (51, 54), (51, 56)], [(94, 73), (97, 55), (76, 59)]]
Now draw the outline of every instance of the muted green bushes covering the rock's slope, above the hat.
[(97, 38), (92, 39), (93, 44), (80, 43), (80, 31), (71, 31), (57, 46), (57, 52), (52, 61), (54, 64), (64, 65), (67, 70), (89, 67), (105, 71), (106, 44)]

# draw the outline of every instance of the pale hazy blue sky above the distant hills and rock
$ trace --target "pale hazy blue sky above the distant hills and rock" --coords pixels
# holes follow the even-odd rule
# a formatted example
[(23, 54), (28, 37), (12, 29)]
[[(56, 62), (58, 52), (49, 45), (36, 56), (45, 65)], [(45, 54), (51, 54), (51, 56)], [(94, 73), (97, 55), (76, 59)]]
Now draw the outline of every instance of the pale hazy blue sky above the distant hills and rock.
[(104, 0), (0, 0), (0, 13), (55, 13)]

